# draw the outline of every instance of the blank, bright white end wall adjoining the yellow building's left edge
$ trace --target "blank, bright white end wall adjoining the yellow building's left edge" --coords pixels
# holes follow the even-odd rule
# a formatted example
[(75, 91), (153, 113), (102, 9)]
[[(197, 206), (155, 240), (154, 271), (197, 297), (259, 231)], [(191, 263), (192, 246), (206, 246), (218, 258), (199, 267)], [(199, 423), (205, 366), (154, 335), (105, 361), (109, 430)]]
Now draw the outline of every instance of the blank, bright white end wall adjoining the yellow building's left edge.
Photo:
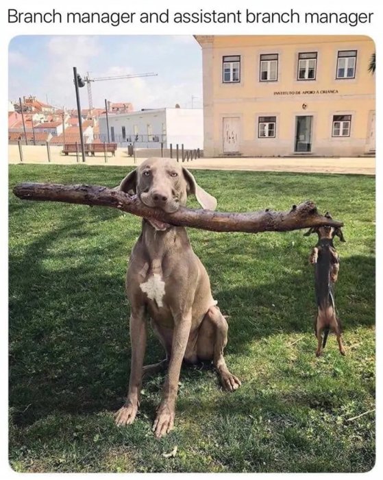
[(166, 108), (167, 146), (184, 144), (185, 149), (203, 149), (202, 108)]

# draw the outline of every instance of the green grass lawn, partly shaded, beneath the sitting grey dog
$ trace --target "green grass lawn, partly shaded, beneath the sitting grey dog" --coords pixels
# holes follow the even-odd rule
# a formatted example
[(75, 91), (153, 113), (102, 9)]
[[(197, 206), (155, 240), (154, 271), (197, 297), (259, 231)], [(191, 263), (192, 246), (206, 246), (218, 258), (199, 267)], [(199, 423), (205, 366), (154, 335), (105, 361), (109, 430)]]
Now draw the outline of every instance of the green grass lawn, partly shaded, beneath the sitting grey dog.
[[(10, 167), (18, 182), (114, 186), (120, 167)], [(223, 392), (214, 371), (182, 369), (175, 430), (151, 422), (163, 376), (117, 428), (127, 391), (127, 257), (140, 219), (116, 209), (10, 194), (10, 464), (19, 472), (365, 472), (375, 461), (375, 178), (195, 171), (221, 211), (286, 210), (310, 198), (345, 222), (336, 305), (347, 357), (330, 337), (314, 355), (316, 238), (189, 229), (229, 318)], [(190, 205), (196, 206), (193, 200)], [(149, 336), (147, 362), (162, 359)], [(177, 446), (174, 458), (164, 458)]]

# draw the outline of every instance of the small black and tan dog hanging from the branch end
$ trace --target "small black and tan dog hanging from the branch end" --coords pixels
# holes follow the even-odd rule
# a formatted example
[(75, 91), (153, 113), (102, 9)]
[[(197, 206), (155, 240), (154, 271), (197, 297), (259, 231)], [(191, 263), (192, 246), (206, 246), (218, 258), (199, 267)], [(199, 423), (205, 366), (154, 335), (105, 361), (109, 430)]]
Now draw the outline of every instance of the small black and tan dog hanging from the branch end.
[[(331, 219), (330, 213), (325, 217)], [(314, 331), (318, 339), (317, 357), (321, 355), (330, 331), (333, 331), (338, 341), (339, 351), (346, 355), (342, 344), (341, 322), (336, 315), (334, 302), (334, 283), (338, 279), (339, 256), (334, 248), (333, 239), (338, 236), (345, 241), (341, 228), (330, 226), (313, 227), (304, 234), (308, 237), (318, 234), (318, 243), (311, 251), (309, 262), (315, 265), (315, 293), (317, 296), (318, 313), (314, 320)], [(322, 342), (322, 333), (323, 342)]]

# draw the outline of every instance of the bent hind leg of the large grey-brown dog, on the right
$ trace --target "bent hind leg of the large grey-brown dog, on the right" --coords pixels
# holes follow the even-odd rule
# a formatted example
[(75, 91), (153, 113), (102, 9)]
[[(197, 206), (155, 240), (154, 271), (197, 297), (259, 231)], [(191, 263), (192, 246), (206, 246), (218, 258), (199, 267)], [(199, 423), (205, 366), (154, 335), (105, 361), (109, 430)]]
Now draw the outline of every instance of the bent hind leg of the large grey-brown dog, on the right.
[[(203, 318), (198, 336), (197, 355), (199, 359), (211, 359), (219, 373), (221, 384), (233, 392), (240, 387), (240, 381), (227, 368), (223, 349), (227, 344), (229, 327), (218, 307), (210, 307)], [(209, 358), (210, 357), (210, 358)]]

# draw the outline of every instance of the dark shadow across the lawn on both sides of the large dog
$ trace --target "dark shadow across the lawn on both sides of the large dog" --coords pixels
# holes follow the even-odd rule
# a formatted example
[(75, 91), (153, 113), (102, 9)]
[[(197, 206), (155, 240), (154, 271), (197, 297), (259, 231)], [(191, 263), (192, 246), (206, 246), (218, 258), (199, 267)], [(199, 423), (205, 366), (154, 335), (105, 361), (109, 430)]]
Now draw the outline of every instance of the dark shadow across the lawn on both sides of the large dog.
[[(136, 224), (129, 235), (135, 233)], [(64, 227), (38, 235), (23, 256), (10, 256), (10, 406), (17, 424), (29, 424), (54, 411), (113, 411), (126, 394), (131, 356), (129, 307), (124, 293), (125, 259), (112, 255), (116, 240), (106, 240), (101, 248), (88, 238), (85, 250), (50, 253), (63, 235), (79, 239), (83, 234), (82, 223), (73, 213)], [(129, 248), (127, 245), (126, 256)], [(283, 246), (264, 248), (283, 257)], [(103, 263), (105, 252), (110, 252), (116, 267), (107, 268)], [(120, 254), (117, 250), (116, 255)], [(104, 267), (95, 268), (97, 255)], [(58, 256), (69, 266), (55, 269)], [(251, 341), (275, 333), (312, 331), (313, 276), (306, 256), (300, 259), (304, 266), (298, 272), (285, 268), (270, 276), (273, 281), (264, 282), (257, 278), (256, 265), (265, 260), (254, 256), (253, 280), (247, 278), (240, 286), (232, 285), (227, 277), (217, 284), (214, 278), (222, 269), (226, 274), (231, 269), (245, 269), (247, 257), (200, 256), (212, 278), (214, 298), (229, 317), (227, 352), (243, 355)], [(222, 263), (217, 263), (217, 258)], [(373, 257), (343, 259), (336, 305), (345, 328), (374, 323), (374, 291)], [(158, 340), (149, 333), (147, 363), (159, 361), (163, 355)], [(192, 369), (190, 375), (197, 373)], [(160, 391), (160, 383), (150, 385)]]

